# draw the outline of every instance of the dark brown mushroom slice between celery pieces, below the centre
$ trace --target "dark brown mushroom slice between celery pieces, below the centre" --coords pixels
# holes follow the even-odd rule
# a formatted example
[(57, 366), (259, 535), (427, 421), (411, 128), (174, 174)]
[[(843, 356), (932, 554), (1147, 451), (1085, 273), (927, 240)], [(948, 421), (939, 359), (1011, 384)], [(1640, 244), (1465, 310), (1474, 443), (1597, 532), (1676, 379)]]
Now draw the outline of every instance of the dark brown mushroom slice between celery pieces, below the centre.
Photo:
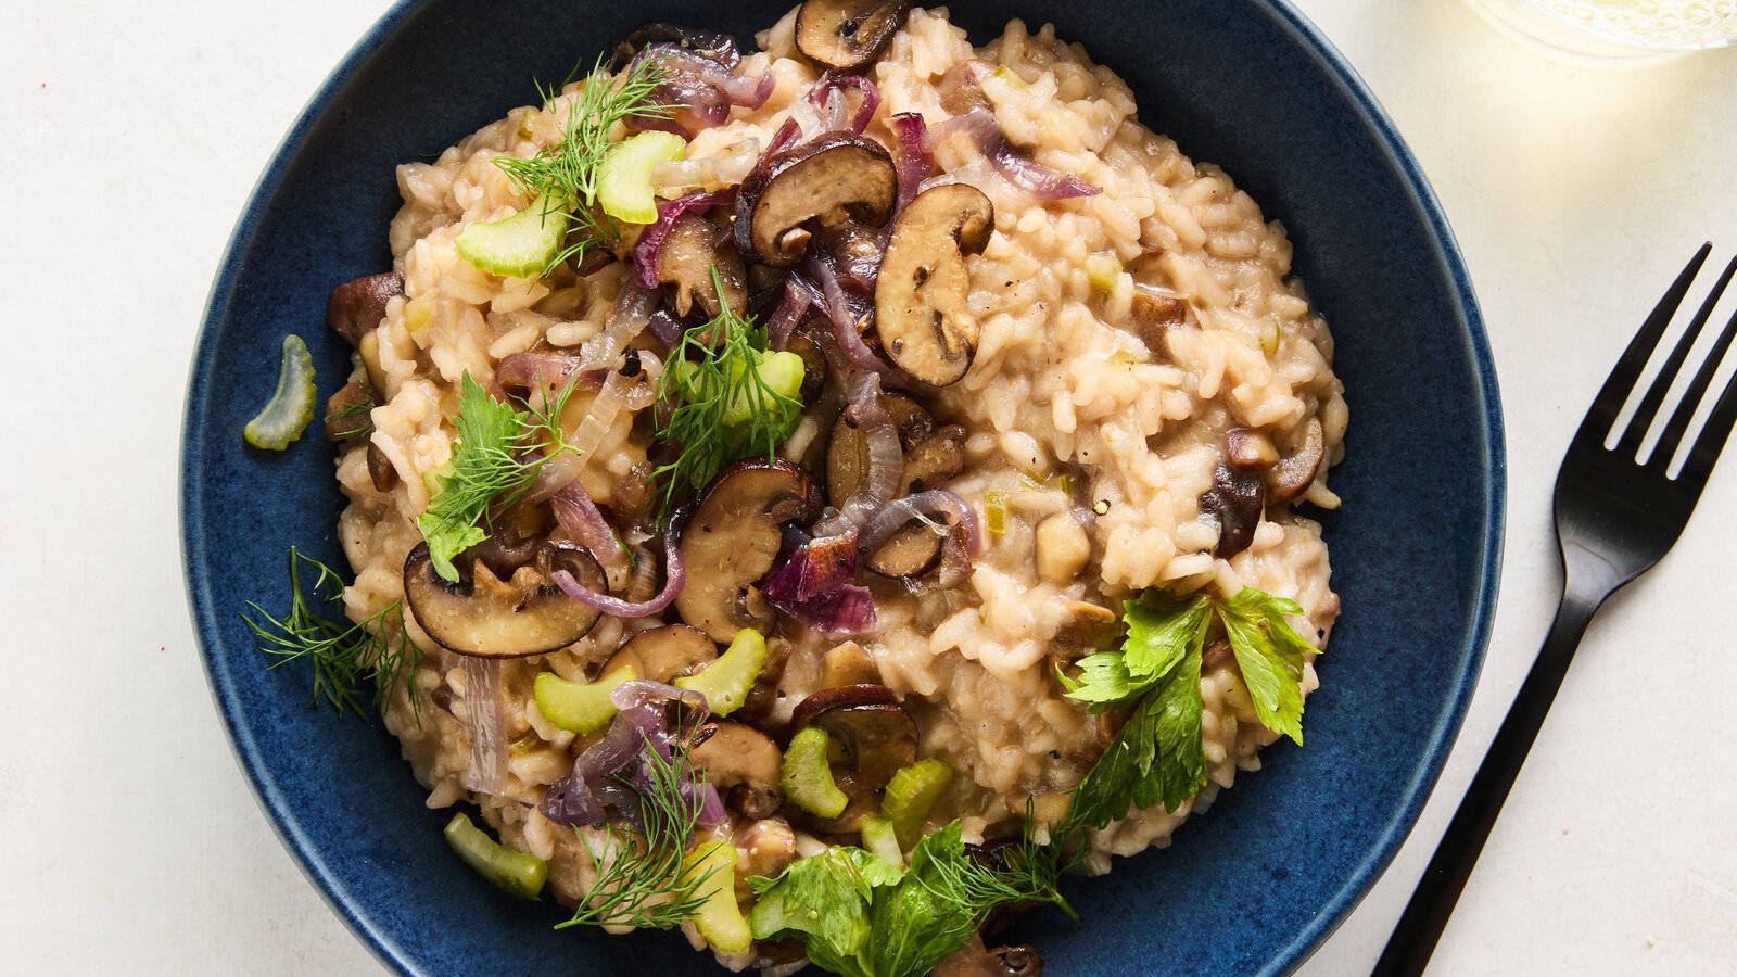
[(832, 761), (846, 768), (839, 788), (853, 800), (886, 788), (917, 761), (917, 723), (884, 685), (844, 685), (815, 692), (790, 718), (792, 732), (820, 727), (832, 737)]

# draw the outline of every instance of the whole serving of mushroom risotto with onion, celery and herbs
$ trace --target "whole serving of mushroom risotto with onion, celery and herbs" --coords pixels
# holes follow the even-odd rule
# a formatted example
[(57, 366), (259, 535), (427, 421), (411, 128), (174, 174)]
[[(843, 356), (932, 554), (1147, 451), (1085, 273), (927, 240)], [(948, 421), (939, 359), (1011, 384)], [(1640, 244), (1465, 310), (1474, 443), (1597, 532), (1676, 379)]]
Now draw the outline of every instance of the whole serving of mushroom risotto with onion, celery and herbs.
[(733, 970), (1035, 974), (985, 918), (1301, 739), (1332, 339), (1051, 28), (756, 40), (646, 28), (398, 169), (330, 308), (346, 610), (413, 643), (386, 725), (497, 883)]

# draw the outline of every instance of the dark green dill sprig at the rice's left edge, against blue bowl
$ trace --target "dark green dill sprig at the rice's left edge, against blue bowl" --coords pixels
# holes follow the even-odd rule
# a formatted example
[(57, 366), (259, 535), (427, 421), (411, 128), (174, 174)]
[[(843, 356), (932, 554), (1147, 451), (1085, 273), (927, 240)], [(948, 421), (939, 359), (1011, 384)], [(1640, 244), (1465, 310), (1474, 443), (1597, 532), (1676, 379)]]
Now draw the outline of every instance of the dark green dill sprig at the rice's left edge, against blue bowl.
[[(302, 568), (314, 572), (311, 588), (302, 588)], [(321, 591), (330, 591), (321, 595)], [(254, 601), (247, 605), (254, 614), (241, 612), (241, 621), (259, 638), (259, 648), (278, 661), (269, 668), (307, 659), (314, 669), (313, 702), (325, 699), (337, 711), (346, 708), (361, 714), (361, 699), (356, 685), (361, 680), (373, 683), (373, 708), (384, 711), (387, 697), (394, 688), (403, 688), (410, 699), (410, 708), (420, 721), (412, 678), (417, 662), (422, 661), (422, 648), (410, 640), (405, 628), (403, 601), (393, 601), (361, 624), (334, 624), (314, 612), (314, 600), (342, 601), (344, 579), (313, 556), (306, 556), (297, 548), (290, 548), (290, 610), (283, 617), (273, 617)], [(257, 617), (254, 617), (257, 614)], [(396, 617), (396, 622), (391, 619)]]

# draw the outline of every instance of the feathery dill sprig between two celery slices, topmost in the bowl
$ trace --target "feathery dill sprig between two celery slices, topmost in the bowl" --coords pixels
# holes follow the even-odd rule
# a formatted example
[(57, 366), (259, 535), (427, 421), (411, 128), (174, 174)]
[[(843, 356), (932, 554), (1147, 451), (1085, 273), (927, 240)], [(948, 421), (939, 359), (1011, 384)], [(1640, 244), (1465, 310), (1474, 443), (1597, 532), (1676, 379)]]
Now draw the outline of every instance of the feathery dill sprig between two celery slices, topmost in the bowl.
[[(568, 75), (570, 80), (571, 76)], [(599, 217), (596, 210), (598, 179), (603, 158), (611, 148), (610, 132), (618, 122), (629, 118), (669, 118), (670, 106), (650, 104), (648, 101), (662, 82), (664, 76), (653, 59), (637, 59), (622, 75), (611, 78), (604, 71), (603, 57), (598, 57), (578, 97), (568, 106), (559, 143), (528, 160), (495, 158), (495, 165), (528, 200), (544, 196), (552, 202), (544, 219), (558, 216), (568, 221), (566, 247), (549, 259), (542, 271), (544, 276), (565, 261), (582, 259), (591, 245), (618, 236), (615, 224)], [(537, 92), (542, 96), (544, 106), (549, 106), (559, 96), (559, 87), (544, 89), (538, 85)]]

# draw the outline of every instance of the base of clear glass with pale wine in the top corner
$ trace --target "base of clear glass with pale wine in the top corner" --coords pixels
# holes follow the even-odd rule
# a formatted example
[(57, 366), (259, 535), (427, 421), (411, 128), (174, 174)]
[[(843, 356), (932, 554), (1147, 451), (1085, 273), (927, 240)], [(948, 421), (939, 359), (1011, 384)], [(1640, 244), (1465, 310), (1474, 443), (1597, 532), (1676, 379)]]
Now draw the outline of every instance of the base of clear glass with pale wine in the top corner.
[(1548, 45), (1600, 57), (1737, 43), (1737, 0), (1471, 0)]

